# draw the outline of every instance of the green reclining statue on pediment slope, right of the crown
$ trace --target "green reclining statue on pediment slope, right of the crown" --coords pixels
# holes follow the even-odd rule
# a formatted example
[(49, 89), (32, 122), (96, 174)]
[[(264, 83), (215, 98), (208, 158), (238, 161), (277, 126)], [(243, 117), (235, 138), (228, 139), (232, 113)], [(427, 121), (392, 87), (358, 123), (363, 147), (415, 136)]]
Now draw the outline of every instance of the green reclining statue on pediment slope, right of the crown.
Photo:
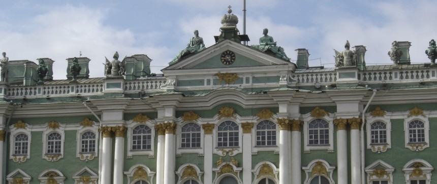
[(273, 41), (273, 37), (269, 36), (267, 33), (269, 30), (267, 28), (263, 29), (263, 34), (260, 38), (260, 45), (251, 45), (252, 48), (257, 49), (261, 52), (272, 52), (275, 56), (280, 57), (285, 60), (289, 60), (290, 58), (284, 52), (284, 48), (276, 46), (276, 42)]

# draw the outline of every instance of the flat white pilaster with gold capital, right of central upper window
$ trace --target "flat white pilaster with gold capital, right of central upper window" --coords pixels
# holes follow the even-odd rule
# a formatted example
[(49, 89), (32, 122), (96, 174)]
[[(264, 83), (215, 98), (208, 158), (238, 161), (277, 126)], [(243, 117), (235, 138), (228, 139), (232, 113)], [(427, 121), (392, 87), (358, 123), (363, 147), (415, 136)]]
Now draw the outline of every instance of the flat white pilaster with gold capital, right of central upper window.
[[(243, 129), (243, 183), (252, 183), (252, 128), (254, 123), (241, 123)], [(238, 166), (237, 166), (238, 167)]]

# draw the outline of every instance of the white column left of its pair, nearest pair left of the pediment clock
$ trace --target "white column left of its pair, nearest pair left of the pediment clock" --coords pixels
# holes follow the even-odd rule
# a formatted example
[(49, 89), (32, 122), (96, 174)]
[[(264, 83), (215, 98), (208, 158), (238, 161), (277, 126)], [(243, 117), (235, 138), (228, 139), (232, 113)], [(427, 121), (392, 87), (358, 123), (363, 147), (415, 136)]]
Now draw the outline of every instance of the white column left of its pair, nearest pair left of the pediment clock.
[(165, 130), (163, 124), (155, 126), (155, 129), (158, 131), (157, 183), (164, 183)]

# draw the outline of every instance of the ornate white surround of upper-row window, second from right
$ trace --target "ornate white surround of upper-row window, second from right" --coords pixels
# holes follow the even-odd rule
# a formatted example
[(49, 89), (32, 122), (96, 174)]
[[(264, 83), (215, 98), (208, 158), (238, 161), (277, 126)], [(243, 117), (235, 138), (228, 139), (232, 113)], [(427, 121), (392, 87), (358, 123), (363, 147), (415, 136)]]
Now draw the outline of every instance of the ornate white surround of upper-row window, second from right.
[[(382, 144), (372, 144), (371, 143), (371, 124), (373, 124), (374, 122), (383, 122), (386, 124), (386, 130), (387, 130), (387, 143), (382, 143)], [(374, 153), (381, 153), (381, 152), (386, 152), (387, 149), (391, 149), (391, 122), (390, 122), (390, 116), (383, 116), (383, 117), (372, 117), (370, 115), (366, 116), (366, 134), (367, 134), (367, 138), (366, 138), (366, 144), (367, 144), (367, 149), (371, 150)]]

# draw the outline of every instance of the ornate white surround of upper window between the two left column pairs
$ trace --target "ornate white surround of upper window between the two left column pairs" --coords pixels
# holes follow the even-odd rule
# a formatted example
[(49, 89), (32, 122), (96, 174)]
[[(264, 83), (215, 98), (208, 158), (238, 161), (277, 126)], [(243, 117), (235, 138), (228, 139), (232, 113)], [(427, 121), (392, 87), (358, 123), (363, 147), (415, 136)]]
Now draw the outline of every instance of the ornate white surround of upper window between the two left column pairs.
[[(127, 138), (128, 138), (128, 146), (127, 146), (127, 158), (132, 158), (134, 155), (148, 155), (149, 158), (154, 157), (154, 138), (155, 138), (155, 125), (152, 123), (154, 120), (148, 120), (145, 123), (138, 123), (134, 121), (130, 121), (126, 124), (127, 130)], [(139, 125), (146, 125), (151, 129), (151, 147), (150, 150), (141, 150), (141, 151), (134, 151), (132, 150), (132, 133), (135, 127)]]

